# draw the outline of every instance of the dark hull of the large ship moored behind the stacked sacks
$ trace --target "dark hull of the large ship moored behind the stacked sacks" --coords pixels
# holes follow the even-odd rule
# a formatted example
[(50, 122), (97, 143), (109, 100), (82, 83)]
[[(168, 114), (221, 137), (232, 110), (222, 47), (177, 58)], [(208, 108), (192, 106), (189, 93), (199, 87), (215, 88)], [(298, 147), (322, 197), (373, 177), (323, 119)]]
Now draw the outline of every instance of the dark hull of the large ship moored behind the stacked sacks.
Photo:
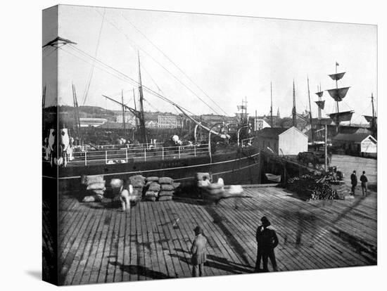
[(168, 176), (177, 182), (194, 180), (197, 172), (209, 172), (215, 181), (224, 179), (228, 185), (260, 182), (260, 155), (258, 149), (241, 148), (235, 151), (196, 157), (170, 158), (165, 160), (132, 161), (123, 164), (71, 164), (67, 167), (51, 167), (44, 163), (43, 176), (47, 180), (58, 179), (59, 190), (77, 190), (82, 175), (103, 175), (106, 181), (129, 176)]

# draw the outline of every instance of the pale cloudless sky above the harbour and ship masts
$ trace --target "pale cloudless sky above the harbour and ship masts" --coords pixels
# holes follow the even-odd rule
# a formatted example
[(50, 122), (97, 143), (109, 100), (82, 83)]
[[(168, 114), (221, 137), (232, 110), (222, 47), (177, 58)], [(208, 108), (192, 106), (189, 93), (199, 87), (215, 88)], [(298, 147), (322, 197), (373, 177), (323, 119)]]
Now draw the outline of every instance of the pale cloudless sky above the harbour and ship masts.
[[(43, 44), (53, 34), (46, 33)], [(355, 110), (352, 122), (365, 123), (361, 115), (372, 113), (371, 93), (377, 104), (375, 25), (59, 6), (58, 35), (77, 43), (57, 50), (58, 91), (55, 74), (44, 72), (46, 100), (58, 96), (61, 105), (72, 105), (75, 84), (79, 105), (118, 110), (102, 94), (120, 100), (123, 91), (124, 102), (133, 107), (137, 53), (142, 84), (196, 115), (234, 115), (245, 98), (250, 115), (269, 114), (272, 82), (274, 115), (279, 108), (281, 117), (290, 116), (293, 80), (296, 110), (303, 112), (309, 106), (308, 77), (316, 117), (317, 86), (334, 88), (328, 75), (336, 62), (338, 72), (346, 72), (339, 86), (350, 86), (340, 110)], [(44, 49), (44, 67), (56, 61), (52, 51)], [(133, 81), (116, 77), (112, 68)], [(178, 112), (147, 91), (144, 98), (145, 110)], [(324, 99), (323, 116), (336, 111), (327, 92)]]

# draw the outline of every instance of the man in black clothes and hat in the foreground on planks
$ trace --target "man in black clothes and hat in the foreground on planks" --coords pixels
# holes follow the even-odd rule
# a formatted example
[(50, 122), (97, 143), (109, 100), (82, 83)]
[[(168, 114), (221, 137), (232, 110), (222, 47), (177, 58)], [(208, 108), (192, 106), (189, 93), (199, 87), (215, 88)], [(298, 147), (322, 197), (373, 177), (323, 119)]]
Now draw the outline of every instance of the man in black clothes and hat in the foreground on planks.
[(258, 245), (257, 261), (255, 262), (255, 271), (260, 271), (260, 260), (262, 259), (262, 268), (264, 272), (268, 272), (267, 260), (272, 262), (274, 271), (277, 271), (277, 261), (275, 259), (274, 248), (278, 245), (277, 234), (274, 230), (267, 228), (270, 226), (270, 221), (266, 216), (261, 219), (262, 225), (258, 226), (256, 239)]

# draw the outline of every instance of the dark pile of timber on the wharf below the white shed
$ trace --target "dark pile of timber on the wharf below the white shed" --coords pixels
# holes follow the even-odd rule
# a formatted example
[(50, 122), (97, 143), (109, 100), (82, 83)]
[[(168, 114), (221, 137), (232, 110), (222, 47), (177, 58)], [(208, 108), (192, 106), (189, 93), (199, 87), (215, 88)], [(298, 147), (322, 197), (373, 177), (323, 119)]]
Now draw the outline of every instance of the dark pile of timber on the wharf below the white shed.
[(297, 193), (303, 200), (334, 200), (340, 199), (329, 181), (319, 176), (305, 174), (288, 179), (286, 188)]

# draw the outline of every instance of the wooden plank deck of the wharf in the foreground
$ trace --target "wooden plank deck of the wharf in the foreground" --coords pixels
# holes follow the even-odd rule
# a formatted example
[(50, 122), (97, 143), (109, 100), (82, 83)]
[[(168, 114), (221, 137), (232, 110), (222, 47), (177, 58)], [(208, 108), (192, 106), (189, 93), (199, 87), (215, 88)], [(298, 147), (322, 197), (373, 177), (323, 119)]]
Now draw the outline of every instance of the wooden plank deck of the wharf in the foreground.
[(251, 273), (255, 229), (267, 216), (279, 236), (279, 271), (376, 264), (376, 193), (305, 202), (281, 188), (246, 188), (251, 198), (141, 202), (130, 213), (62, 195), (60, 283), (77, 285), (191, 276), (193, 229), (208, 238), (205, 276)]

